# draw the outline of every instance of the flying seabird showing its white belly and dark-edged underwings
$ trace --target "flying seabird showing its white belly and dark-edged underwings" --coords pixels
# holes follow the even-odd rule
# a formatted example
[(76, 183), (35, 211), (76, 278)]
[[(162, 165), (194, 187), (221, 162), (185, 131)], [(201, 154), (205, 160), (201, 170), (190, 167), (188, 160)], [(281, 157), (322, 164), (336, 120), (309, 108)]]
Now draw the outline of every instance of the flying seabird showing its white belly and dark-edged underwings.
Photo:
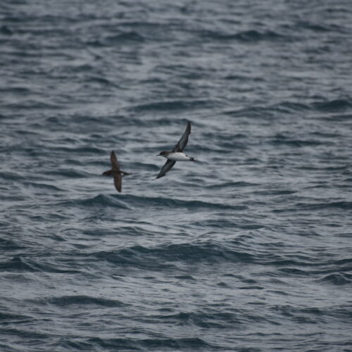
[(165, 165), (163, 165), (163, 168), (161, 168), (156, 178), (165, 176), (165, 173), (168, 172), (173, 165), (175, 165), (176, 161), (195, 161), (194, 158), (191, 158), (191, 156), (187, 156), (186, 154), (182, 153), (184, 147), (187, 146), (189, 134), (191, 134), (191, 122), (187, 122), (186, 130), (184, 130), (180, 141), (178, 141), (172, 151), (162, 151), (157, 155), (167, 158), (168, 161), (166, 161)]

